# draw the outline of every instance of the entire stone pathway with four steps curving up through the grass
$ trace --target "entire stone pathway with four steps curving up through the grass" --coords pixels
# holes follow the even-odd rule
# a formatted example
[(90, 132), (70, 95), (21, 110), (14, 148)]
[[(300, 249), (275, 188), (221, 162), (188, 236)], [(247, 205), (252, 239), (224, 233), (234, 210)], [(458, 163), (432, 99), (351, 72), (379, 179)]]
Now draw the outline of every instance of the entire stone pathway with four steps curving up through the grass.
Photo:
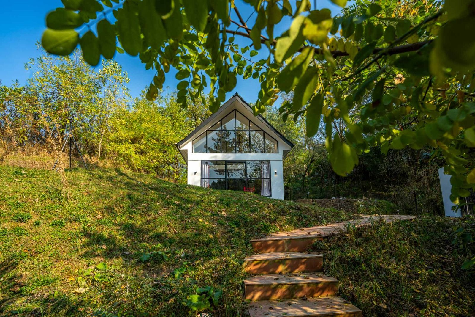
[[(325, 226), (279, 232), (251, 240), (254, 254), (244, 268), (254, 276), (244, 281), (251, 317), (362, 317), (358, 307), (338, 297), (338, 280), (321, 274), (323, 255), (306, 252), (316, 240), (345, 232), (349, 225), (410, 220), (414, 216), (362, 216)], [(259, 275), (260, 274), (260, 275)]]

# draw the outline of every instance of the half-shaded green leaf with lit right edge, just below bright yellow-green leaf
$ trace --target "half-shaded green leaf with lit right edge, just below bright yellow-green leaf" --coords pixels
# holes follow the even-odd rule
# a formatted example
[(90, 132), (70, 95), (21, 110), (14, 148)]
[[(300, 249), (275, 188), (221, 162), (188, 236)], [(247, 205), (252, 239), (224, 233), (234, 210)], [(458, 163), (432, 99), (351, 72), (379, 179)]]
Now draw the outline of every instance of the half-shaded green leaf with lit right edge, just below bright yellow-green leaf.
[(314, 48), (304, 48), (300, 55), (295, 57), (295, 59), (285, 66), (285, 68), (277, 75), (276, 84), (279, 89), (287, 92), (292, 90), (308, 68), (313, 57)]

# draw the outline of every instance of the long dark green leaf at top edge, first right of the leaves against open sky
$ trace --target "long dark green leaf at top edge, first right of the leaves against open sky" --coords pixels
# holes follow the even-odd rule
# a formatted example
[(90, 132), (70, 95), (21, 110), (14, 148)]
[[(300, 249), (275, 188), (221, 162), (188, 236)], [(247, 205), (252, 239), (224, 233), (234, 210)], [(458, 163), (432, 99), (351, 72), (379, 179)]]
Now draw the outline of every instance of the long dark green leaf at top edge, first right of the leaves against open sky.
[(137, 9), (136, 4), (125, 1), (123, 7), (117, 10), (115, 14), (121, 46), (132, 56), (136, 56), (142, 50)]

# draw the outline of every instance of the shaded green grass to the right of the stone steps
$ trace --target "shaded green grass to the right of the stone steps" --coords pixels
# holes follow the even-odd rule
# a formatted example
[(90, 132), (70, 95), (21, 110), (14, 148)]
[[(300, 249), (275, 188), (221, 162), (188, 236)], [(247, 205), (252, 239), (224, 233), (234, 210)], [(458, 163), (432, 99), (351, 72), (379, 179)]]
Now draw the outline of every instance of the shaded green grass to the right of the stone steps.
[[(468, 234), (465, 247), (454, 228)], [(474, 229), (470, 219), (419, 216), (352, 229), (312, 249), (364, 316), (475, 316), (474, 269), (461, 269), (475, 254)]]

